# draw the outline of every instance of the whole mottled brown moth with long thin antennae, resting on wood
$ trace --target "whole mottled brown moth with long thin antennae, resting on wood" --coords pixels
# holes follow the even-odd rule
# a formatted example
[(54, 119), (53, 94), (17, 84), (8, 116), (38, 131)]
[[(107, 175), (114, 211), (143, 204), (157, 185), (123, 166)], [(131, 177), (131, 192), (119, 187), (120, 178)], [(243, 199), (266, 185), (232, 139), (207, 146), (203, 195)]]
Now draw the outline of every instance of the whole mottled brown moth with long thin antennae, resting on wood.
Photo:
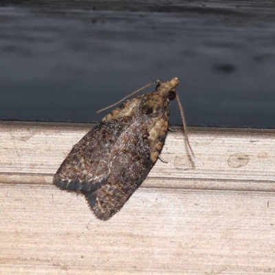
[(110, 219), (146, 179), (164, 146), (170, 101), (175, 98), (192, 152), (184, 109), (175, 90), (178, 78), (166, 83), (157, 80), (141, 89), (155, 83), (155, 91), (127, 100), (102, 118), (74, 145), (54, 175), (59, 188), (83, 193), (98, 219)]

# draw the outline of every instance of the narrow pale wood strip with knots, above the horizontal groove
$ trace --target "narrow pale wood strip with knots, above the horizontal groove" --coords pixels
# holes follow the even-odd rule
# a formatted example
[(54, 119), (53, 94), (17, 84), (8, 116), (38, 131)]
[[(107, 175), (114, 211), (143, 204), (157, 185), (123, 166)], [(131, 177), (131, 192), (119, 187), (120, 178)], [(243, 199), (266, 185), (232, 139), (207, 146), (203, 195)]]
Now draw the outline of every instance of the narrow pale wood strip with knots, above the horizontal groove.
[[(0, 182), (52, 184), (52, 176), (91, 124), (0, 123)], [(190, 128), (169, 133), (145, 187), (275, 190), (275, 131)], [(173, 181), (167, 179), (173, 178)]]

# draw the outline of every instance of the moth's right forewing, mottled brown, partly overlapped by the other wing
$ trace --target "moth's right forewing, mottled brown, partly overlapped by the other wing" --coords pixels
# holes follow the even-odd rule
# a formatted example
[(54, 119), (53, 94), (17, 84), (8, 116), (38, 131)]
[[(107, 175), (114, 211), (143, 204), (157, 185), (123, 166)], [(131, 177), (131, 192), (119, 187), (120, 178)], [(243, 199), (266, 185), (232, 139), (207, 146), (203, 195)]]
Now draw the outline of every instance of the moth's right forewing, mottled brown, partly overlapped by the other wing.
[[(162, 150), (167, 133), (168, 117), (158, 120), (149, 132), (147, 124), (137, 121), (131, 125), (131, 139), (115, 157), (107, 184), (90, 192), (84, 192), (89, 206), (98, 219), (108, 220), (118, 212), (133, 192), (146, 179)], [(164, 131), (159, 131), (162, 127)], [(150, 133), (158, 132), (154, 138)], [(152, 148), (152, 142), (157, 148)]]

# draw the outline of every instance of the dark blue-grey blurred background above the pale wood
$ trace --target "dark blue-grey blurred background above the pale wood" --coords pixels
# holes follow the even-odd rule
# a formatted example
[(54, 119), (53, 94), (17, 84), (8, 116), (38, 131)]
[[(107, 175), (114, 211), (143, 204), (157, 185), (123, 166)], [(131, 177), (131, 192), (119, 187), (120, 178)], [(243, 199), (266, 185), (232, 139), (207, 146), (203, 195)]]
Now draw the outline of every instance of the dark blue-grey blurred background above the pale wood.
[(275, 128), (274, 1), (0, 3), (0, 120), (93, 122), (177, 76), (188, 125)]

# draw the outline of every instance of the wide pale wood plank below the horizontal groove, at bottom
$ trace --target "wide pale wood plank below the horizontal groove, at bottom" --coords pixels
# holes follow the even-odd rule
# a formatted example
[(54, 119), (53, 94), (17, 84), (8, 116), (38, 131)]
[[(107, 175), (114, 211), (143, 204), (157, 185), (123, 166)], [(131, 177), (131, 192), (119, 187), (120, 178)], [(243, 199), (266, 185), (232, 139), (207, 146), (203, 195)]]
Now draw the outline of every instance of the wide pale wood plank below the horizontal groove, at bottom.
[(140, 188), (107, 222), (54, 186), (0, 197), (0, 274), (275, 272), (273, 192)]

